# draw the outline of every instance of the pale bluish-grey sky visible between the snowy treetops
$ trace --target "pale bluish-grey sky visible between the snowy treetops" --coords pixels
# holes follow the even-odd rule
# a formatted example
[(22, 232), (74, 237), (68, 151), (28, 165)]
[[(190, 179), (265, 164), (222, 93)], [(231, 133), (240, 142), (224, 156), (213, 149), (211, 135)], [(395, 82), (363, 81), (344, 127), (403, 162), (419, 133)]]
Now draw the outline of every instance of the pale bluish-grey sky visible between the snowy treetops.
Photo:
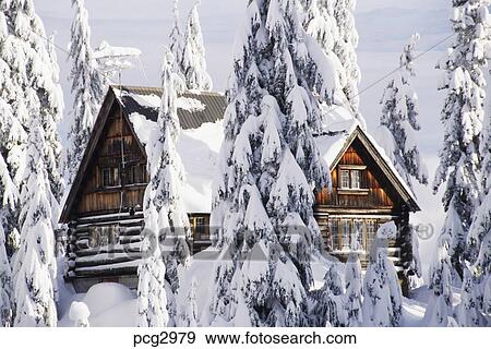
[[(141, 62), (135, 69), (122, 74), (123, 84), (159, 84), (160, 61), (168, 34), (172, 25), (173, 0), (85, 0), (92, 26), (92, 45), (107, 40), (113, 46), (130, 46), (142, 50)], [(181, 1), (181, 17), (185, 19), (194, 1)], [(201, 25), (206, 47), (208, 72), (214, 80), (214, 89), (224, 91), (230, 71), (231, 48), (238, 25), (246, 8), (246, 0), (202, 0)], [(72, 20), (71, 0), (35, 0), (37, 13), (45, 23), (47, 33), (56, 32), (56, 41), (62, 48), (70, 39)], [(387, 79), (381, 80), (398, 65), (398, 57), (411, 34), (419, 32), (420, 53), (448, 36), (450, 3), (447, 0), (360, 0), (355, 13), (360, 35), (358, 60), (362, 72), (360, 84), (360, 109), (368, 121), (369, 130), (379, 123), (379, 104)], [(417, 76), (414, 87), (419, 95), (419, 132), (421, 152), (430, 171), (430, 182), (438, 166), (438, 151), (442, 143), (440, 110), (444, 94), (436, 91), (440, 72), (434, 69), (443, 57), (450, 41), (439, 45), (416, 61)], [(58, 50), (61, 68), (61, 84), (64, 91), (67, 112), (72, 97), (68, 73), (70, 64), (67, 52)], [(373, 85), (374, 82), (380, 81)], [(373, 85), (373, 86), (372, 86)], [(65, 134), (68, 122), (60, 125)], [(416, 194), (422, 213), (414, 216), (416, 224), (431, 224), (438, 232), (444, 215), (430, 188), (417, 185)], [(438, 233), (436, 233), (438, 234)], [(435, 236), (436, 236), (435, 234)], [(433, 240), (421, 241), (422, 254), (430, 255)], [(427, 261), (429, 262), (429, 261)]]

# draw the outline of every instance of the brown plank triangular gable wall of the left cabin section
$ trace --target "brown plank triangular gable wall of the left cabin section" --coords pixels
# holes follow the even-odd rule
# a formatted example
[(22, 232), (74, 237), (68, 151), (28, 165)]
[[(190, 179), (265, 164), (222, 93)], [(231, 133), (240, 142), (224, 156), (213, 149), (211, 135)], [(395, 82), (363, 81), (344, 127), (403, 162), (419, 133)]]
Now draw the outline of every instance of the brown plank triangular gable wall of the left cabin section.
[(141, 210), (147, 182), (146, 156), (120, 105), (113, 103), (88, 160), (73, 215)]

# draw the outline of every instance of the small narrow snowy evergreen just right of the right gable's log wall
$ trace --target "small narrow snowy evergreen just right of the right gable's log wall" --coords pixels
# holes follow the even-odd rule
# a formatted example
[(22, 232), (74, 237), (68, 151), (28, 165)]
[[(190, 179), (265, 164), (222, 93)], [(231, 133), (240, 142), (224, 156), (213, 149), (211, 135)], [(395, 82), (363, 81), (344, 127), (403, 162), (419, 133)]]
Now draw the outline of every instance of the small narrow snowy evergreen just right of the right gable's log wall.
[(440, 237), (435, 263), (430, 270), (428, 288), (432, 293), (423, 318), (423, 323), (430, 327), (446, 327), (450, 324), (448, 318), (453, 316), (451, 240), (448, 234)]

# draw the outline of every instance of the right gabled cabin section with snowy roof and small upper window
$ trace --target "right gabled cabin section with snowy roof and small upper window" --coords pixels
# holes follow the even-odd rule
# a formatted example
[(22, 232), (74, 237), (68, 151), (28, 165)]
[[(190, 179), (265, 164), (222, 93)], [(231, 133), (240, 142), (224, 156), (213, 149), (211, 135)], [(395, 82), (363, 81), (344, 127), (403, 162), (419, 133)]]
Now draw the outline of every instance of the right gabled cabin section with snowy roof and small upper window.
[(325, 246), (342, 261), (351, 251), (359, 251), (364, 267), (376, 230), (393, 220), (398, 236), (388, 242), (388, 252), (403, 279), (412, 261), (409, 214), (420, 208), (375, 141), (356, 122), (340, 125), (340, 130), (316, 139), (332, 178), (331, 190), (315, 193), (315, 216)]

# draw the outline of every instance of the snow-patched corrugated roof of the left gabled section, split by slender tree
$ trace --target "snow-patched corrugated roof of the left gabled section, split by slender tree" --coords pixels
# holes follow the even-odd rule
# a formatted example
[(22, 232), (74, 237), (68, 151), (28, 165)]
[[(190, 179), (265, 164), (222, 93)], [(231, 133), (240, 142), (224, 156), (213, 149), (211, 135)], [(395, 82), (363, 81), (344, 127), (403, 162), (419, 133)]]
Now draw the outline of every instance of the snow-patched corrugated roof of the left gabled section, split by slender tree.
[[(149, 130), (157, 127), (161, 88), (113, 86), (133, 131), (144, 145)], [(178, 152), (184, 165), (184, 206), (189, 213), (212, 210), (212, 180), (224, 139), (221, 120), (225, 96), (188, 92), (179, 96), (178, 117), (182, 133)]]

